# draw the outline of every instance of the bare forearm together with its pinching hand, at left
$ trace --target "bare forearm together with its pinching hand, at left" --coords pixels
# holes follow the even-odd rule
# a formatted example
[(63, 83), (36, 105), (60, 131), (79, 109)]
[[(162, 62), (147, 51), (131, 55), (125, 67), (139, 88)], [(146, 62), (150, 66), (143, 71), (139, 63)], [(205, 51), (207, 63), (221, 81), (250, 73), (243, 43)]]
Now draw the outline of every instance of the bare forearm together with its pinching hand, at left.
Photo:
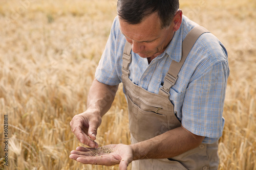
[(118, 85), (106, 85), (96, 79), (93, 81), (88, 94), (87, 110), (75, 115), (70, 122), (72, 132), (81, 143), (98, 148), (99, 145), (94, 142), (97, 129), (101, 117), (110, 109), (117, 89)]

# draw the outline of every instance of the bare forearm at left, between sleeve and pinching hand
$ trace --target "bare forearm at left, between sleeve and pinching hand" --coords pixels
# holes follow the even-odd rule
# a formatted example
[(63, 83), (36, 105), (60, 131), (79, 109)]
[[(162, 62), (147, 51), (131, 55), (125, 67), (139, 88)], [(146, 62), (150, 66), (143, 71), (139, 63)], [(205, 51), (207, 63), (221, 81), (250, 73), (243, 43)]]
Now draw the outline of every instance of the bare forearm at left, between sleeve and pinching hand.
[(118, 85), (105, 85), (95, 79), (88, 94), (87, 109), (99, 113), (102, 117), (110, 109), (117, 89)]

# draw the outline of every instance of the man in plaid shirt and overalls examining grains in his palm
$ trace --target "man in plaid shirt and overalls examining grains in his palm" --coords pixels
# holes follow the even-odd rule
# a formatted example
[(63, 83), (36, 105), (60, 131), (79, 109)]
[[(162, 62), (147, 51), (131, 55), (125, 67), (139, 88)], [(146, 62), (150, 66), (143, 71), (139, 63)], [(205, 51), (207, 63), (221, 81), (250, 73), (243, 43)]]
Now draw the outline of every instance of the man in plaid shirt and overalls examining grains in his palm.
[(198, 31), (178, 0), (119, 0), (117, 9), (88, 109), (70, 125), (81, 143), (97, 148), (101, 117), (122, 82), (132, 144), (109, 145), (112, 153), (96, 157), (78, 147), (70, 158), (120, 169), (132, 161), (132, 169), (218, 169), (229, 75), (225, 47)]

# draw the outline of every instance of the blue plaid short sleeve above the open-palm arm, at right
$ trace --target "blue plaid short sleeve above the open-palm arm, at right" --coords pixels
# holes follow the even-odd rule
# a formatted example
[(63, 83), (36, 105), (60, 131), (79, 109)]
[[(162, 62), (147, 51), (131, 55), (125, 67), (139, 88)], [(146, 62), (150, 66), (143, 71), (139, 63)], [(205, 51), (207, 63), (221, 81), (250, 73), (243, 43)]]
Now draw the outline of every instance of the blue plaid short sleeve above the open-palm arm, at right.
[(205, 143), (209, 143), (209, 140), (213, 143), (222, 136), (228, 75), (228, 63), (219, 62), (206, 69), (187, 87), (182, 107), (182, 126), (196, 135), (205, 136)]

